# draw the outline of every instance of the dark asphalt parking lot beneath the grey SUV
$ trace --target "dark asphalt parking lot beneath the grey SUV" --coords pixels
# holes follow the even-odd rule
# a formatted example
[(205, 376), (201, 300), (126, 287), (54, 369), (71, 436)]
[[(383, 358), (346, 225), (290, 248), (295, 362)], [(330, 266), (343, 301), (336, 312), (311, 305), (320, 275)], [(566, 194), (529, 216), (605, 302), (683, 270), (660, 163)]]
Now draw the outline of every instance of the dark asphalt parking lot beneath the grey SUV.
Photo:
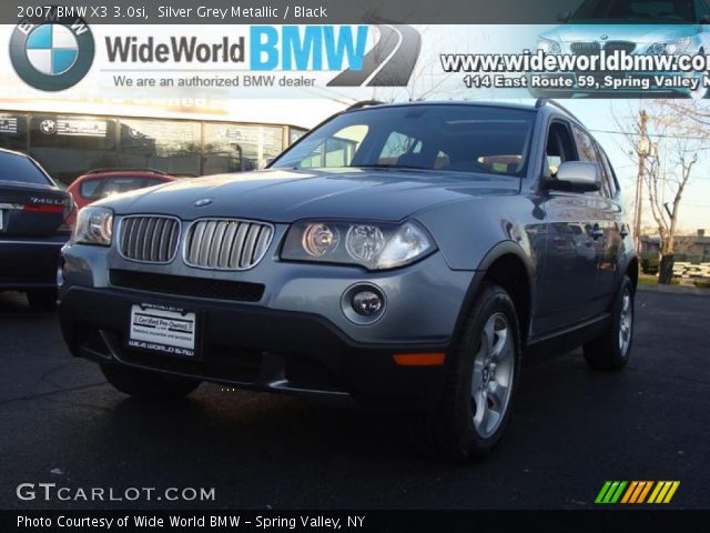
[[(100, 312), (100, 310), (98, 310)], [(585, 509), (605, 480), (679, 480), (710, 509), (710, 298), (640, 292), (626, 371), (529, 365), (485, 462), (423, 460), (397, 420), (201, 386), (144, 405), (67, 352), (53, 314), (0, 294), (1, 509)], [(214, 502), (21, 501), (20, 483), (215, 487)]]

